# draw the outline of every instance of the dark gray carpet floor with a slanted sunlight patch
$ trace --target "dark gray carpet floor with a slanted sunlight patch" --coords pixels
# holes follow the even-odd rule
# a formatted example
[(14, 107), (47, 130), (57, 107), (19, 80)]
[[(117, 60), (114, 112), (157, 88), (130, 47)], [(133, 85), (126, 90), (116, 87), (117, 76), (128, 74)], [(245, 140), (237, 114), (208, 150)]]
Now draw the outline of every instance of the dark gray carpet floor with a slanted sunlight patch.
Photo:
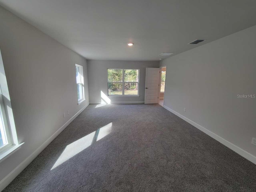
[(256, 191), (255, 164), (158, 104), (95, 107), (4, 192)]

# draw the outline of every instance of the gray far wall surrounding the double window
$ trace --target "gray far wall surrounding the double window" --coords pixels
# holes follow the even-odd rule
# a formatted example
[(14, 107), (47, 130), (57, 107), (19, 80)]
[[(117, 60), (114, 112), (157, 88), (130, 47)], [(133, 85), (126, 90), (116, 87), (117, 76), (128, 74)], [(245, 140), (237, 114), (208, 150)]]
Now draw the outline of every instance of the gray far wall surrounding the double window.
[(140, 69), (139, 97), (111, 97), (114, 103), (144, 103), (146, 67), (159, 68), (158, 61), (87, 60), (90, 103), (101, 102), (101, 91), (108, 96), (108, 68)]

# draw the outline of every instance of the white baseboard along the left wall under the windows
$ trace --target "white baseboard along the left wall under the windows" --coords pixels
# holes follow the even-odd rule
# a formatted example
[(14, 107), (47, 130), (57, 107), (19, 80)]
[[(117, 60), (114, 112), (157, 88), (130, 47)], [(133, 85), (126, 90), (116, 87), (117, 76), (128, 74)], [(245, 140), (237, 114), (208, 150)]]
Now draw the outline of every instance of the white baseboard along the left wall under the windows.
[(50, 136), (50, 138), (48, 138), (32, 154), (30, 154), (30, 156), (22, 161), (16, 168), (14, 168), (12, 172), (10, 172), (5, 178), (3, 178), (0, 181), (0, 192), (4, 190), (4, 188), (6, 188), (6, 186), (8, 186), (8, 184), (10, 184), (10, 182), (12, 182), (12, 180), (14, 180), (14, 178), (16, 178), (16, 176), (18, 176), (18, 174), (20, 174), (20, 172), (22, 172), (22, 170), (24, 170), (26, 166), (28, 166), (28, 164), (30, 164), (42, 152), (42, 150), (44, 150), (44, 148), (46, 148), (50, 144), (50, 142), (52, 142), (58, 136), (58, 134), (60, 134), (88, 105), (89, 103), (81, 110), (79, 110), (74, 116), (72, 116), (70, 120), (68, 120), (63, 126), (61, 126), (61, 128), (59, 128), (52, 136)]

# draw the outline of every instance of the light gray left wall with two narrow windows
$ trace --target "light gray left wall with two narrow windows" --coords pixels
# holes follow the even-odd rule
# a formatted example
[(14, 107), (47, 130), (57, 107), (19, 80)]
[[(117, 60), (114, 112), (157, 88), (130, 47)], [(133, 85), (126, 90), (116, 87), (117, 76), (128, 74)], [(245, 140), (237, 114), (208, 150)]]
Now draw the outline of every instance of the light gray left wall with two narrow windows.
[[(0, 163), (1, 181), (87, 106), (89, 98), (86, 59), (2, 7), (0, 50), (18, 142), (25, 142), (20, 150)], [(85, 75), (87, 100), (79, 106), (75, 63), (84, 66)], [(68, 110), (70, 115), (63, 118)]]

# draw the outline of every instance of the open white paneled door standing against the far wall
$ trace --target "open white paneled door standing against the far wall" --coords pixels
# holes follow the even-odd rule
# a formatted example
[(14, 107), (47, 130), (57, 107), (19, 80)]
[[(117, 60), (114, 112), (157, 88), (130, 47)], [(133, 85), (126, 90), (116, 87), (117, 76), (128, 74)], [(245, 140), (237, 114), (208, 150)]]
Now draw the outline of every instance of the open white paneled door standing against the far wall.
[(145, 104), (158, 103), (160, 68), (146, 68)]

